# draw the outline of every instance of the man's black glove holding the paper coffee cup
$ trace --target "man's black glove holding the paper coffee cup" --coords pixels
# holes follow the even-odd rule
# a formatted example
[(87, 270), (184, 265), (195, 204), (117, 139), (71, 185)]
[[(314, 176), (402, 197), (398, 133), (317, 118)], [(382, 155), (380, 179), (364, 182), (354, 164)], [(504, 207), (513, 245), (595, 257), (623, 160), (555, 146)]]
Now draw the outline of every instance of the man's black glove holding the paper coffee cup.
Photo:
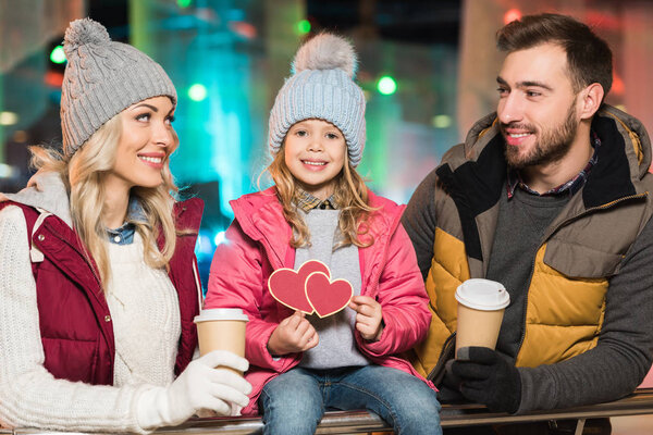
[(486, 347), (458, 349), (452, 373), (460, 380), (467, 399), (486, 405), (491, 411), (517, 412), (521, 401), (521, 377), (496, 351)]

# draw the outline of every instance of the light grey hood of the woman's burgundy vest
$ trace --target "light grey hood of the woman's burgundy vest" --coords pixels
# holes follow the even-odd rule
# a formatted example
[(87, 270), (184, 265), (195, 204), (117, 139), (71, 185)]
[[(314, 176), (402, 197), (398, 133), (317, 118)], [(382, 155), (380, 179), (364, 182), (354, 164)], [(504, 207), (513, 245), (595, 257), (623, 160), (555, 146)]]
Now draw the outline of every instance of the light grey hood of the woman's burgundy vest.
[(61, 176), (56, 172), (37, 172), (23, 190), (16, 194), (0, 192), (1, 201), (14, 201), (42, 209), (73, 227), (67, 190)]

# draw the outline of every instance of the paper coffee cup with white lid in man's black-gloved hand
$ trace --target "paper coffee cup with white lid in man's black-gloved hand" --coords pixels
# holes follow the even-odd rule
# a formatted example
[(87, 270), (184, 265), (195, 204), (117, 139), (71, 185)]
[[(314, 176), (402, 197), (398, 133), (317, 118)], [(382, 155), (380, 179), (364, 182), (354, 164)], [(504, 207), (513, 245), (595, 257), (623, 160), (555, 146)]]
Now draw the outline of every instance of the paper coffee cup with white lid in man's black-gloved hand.
[(458, 349), (469, 346), (496, 347), (498, 331), (510, 296), (495, 281), (467, 279), (456, 289), (458, 301), (458, 326), (456, 332), (456, 358)]

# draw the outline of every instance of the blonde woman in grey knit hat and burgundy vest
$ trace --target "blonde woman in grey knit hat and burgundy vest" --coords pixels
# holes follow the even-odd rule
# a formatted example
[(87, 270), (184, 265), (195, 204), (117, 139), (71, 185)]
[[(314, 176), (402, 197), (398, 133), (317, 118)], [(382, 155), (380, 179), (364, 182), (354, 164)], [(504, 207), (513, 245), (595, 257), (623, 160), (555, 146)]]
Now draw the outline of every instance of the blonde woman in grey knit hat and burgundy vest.
[(246, 406), (249, 384), (213, 369), (246, 360), (190, 362), (202, 206), (171, 196), (170, 78), (89, 18), (64, 49), (63, 154), (33, 148), (37, 175), (0, 195), (0, 423), (143, 433)]

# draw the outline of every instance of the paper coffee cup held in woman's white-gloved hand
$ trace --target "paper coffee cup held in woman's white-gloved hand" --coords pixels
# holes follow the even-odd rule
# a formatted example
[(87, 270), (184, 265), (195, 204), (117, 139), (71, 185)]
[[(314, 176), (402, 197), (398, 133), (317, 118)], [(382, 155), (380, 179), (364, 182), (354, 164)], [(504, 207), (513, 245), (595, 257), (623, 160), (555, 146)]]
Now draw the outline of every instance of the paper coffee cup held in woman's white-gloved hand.
[(248, 320), (243, 310), (237, 308), (201, 310), (194, 320), (197, 324), (199, 355), (229, 350), (245, 358), (245, 325)]

